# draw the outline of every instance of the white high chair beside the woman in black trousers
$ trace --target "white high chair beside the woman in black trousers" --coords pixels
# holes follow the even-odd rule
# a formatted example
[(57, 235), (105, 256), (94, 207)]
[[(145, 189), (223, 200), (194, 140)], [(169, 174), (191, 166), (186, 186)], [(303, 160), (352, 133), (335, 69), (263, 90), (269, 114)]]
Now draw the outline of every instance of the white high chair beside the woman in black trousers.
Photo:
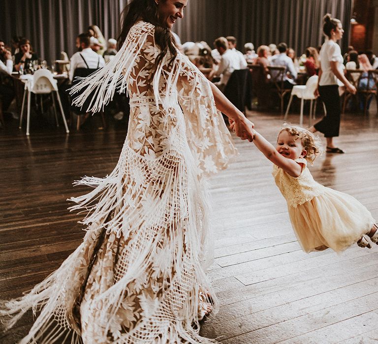
[[(307, 80), (306, 85), (296, 85), (293, 86), (293, 89), (291, 91), (289, 104), (287, 104), (287, 109), (285, 112), (284, 120), (286, 120), (287, 114), (289, 113), (291, 101), (293, 99), (293, 96), (296, 95), (298, 98), (301, 99), (301, 114), (299, 117), (299, 125), (303, 125), (303, 103), (305, 100), (310, 100), (310, 118), (309, 118), (309, 126), (311, 126), (311, 117), (313, 115), (313, 100), (316, 100), (314, 92), (317, 86), (317, 75), (313, 75), (312, 77)], [(316, 101), (314, 106), (314, 118), (315, 118), (315, 112), (316, 112)]]

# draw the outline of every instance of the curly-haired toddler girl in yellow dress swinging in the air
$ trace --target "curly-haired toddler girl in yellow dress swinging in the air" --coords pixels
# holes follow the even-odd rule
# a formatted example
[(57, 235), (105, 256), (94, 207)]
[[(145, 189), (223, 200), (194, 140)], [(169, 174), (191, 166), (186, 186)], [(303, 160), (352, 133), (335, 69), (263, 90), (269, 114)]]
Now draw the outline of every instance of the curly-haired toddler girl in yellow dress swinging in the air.
[(372, 214), (353, 197), (315, 182), (307, 168), (319, 153), (317, 141), (306, 129), (284, 125), (276, 148), (257, 132), (253, 143), (274, 163), (273, 176), (305, 252), (326, 248), (341, 252), (355, 242), (371, 248), (368, 236), (378, 244)]

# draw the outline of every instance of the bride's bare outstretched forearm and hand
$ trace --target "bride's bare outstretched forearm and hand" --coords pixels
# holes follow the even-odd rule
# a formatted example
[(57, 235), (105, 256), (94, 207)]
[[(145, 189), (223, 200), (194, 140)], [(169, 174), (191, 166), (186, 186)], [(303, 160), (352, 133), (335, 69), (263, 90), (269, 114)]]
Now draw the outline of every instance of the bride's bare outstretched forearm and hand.
[(232, 128), (238, 137), (252, 142), (254, 124), (224, 96), (217, 86), (211, 82), (209, 83), (217, 109), (230, 119), (230, 123), (233, 122)]

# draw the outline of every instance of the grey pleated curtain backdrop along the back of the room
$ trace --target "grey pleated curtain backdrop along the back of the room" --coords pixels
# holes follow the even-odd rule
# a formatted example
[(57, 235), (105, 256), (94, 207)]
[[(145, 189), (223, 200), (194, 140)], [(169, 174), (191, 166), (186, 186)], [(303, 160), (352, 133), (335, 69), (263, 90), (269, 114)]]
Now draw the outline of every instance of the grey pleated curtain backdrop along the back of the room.
[[(28, 37), (48, 62), (76, 50), (75, 37), (96, 24), (105, 39), (116, 38), (119, 18), (130, 0), (0, 0), (0, 38)], [(352, 0), (189, 0), (184, 20), (174, 30), (182, 42), (204, 40), (212, 46), (219, 36), (261, 44), (286, 42), (301, 55), (307, 46), (322, 43), (322, 17), (329, 12), (344, 26), (340, 42), (349, 41)]]

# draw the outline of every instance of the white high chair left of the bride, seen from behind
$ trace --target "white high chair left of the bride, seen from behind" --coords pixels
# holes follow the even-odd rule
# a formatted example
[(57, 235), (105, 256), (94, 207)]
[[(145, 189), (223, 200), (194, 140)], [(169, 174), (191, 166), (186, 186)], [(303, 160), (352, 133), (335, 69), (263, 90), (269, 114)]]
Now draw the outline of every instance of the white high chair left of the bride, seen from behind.
[(53, 74), (49, 70), (38, 69), (37, 71), (35, 71), (34, 75), (31, 76), (31, 78), (26, 79), (24, 97), (23, 97), (23, 100), (22, 100), (22, 107), (21, 107), (20, 126), (19, 126), (20, 129), (21, 129), (21, 126), (22, 126), (22, 117), (24, 115), (24, 105), (25, 105), (26, 93), (28, 93), (28, 116), (27, 116), (27, 124), (26, 124), (26, 135), (29, 136), (31, 93), (34, 93), (34, 94), (49, 94), (49, 93), (51, 93), (51, 98), (53, 99), (53, 105), (54, 105), (55, 119), (57, 121), (57, 126), (59, 127), (57, 109), (55, 107), (55, 98), (54, 98), (54, 93), (56, 94), (56, 97), (57, 97), (58, 103), (59, 103), (59, 108), (60, 108), (61, 113), (62, 113), (62, 119), (63, 119), (63, 123), (64, 123), (64, 127), (65, 127), (65, 132), (69, 133), (67, 122), (65, 120), (65, 116), (64, 116), (64, 112), (63, 112), (61, 98), (60, 98), (59, 92), (58, 92), (57, 81), (54, 79)]

